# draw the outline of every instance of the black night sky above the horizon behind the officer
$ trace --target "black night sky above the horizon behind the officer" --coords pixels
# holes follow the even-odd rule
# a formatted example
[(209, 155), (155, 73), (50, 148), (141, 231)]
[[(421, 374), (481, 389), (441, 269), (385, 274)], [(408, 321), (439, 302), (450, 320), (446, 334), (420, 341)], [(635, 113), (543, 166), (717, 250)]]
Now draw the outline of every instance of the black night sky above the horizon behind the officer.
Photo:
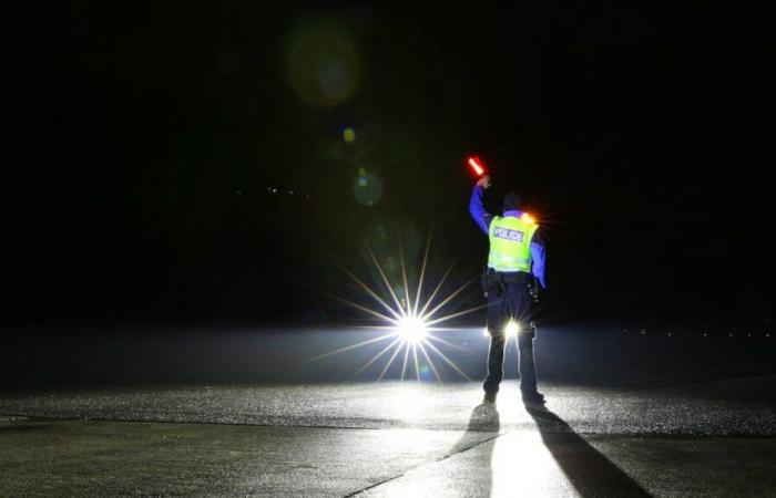
[(338, 264), (412, 281), (429, 232), (449, 292), (468, 154), (543, 227), (544, 320), (770, 317), (767, 2), (49, 3), (3, 8), (8, 321), (356, 322)]

